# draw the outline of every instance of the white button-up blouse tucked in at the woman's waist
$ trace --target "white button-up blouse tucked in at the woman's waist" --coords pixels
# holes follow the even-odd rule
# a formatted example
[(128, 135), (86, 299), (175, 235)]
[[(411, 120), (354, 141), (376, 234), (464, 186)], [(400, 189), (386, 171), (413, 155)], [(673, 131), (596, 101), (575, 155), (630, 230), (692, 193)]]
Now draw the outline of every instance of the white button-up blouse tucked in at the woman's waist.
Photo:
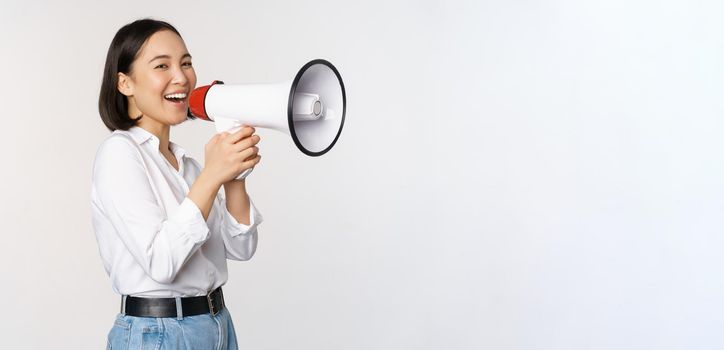
[(179, 170), (159, 151), (159, 140), (134, 126), (114, 131), (93, 166), (93, 228), (113, 291), (141, 297), (205, 295), (226, 283), (226, 259), (249, 260), (263, 218), (254, 204), (240, 224), (217, 193), (208, 220), (186, 195), (201, 173), (178, 145), (169, 147)]

